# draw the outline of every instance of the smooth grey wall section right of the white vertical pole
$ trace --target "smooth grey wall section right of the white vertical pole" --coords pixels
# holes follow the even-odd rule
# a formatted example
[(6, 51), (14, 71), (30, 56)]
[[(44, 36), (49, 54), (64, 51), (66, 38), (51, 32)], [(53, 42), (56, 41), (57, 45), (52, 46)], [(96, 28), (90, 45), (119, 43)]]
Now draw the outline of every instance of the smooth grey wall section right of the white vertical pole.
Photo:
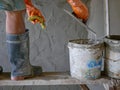
[(110, 34), (120, 35), (120, 0), (109, 0)]

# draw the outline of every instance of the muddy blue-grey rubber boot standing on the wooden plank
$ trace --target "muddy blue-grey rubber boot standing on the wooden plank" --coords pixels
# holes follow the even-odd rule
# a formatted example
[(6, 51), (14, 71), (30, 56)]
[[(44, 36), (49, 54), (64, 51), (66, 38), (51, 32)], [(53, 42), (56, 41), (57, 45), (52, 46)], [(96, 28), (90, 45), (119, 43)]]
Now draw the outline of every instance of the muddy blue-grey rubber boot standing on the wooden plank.
[(8, 57), (11, 63), (11, 80), (41, 75), (40, 66), (32, 66), (29, 61), (29, 31), (24, 34), (7, 34)]

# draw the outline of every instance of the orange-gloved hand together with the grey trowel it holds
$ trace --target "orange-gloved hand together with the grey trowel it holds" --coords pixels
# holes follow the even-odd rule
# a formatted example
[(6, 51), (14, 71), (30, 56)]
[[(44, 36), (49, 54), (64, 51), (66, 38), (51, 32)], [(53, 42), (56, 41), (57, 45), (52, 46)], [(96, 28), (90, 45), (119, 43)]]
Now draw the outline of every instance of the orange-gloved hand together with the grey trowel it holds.
[[(89, 28), (86, 25), (86, 22), (89, 17), (89, 11), (88, 8), (85, 6), (85, 4), (81, 0), (67, 0), (67, 2), (70, 4), (73, 13), (67, 11), (64, 9), (64, 11), (73, 17), (78, 23), (80, 23), (83, 27), (91, 31), (94, 35), (96, 35), (96, 32), (94, 32), (91, 28)], [(82, 20), (82, 22), (81, 22)]]

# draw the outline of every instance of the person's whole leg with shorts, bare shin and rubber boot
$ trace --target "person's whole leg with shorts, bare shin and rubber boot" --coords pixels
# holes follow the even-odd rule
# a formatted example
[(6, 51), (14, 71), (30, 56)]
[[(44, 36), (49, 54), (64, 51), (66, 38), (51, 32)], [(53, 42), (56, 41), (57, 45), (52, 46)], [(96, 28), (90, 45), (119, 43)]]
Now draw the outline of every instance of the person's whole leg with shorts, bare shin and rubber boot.
[[(1, 6), (2, 8), (0, 8), (6, 10), (6, 37), (8, 56), (12, 67), (12, 80), (22, 80), (33, 75), (40, 75), (42, 72), (40, 66), (33, 67), (29, 61), (29, 31), (25, 30), (24, 23), (25, 5), (20, 5), (24, 4), (23, 1), (24, 0), (4, 0)], [(7, 5), (11, 7), (11, 9), (3, 7)], [(23, 7), (19, 8), (18, 6)]]

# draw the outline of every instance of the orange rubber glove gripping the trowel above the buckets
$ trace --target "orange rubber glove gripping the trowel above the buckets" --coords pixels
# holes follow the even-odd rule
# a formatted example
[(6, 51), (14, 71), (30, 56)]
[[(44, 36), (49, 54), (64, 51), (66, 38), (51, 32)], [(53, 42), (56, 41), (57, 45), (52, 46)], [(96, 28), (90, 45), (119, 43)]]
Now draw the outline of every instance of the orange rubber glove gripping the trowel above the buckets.
[(85, 4), (81, 0), (67, 0), (67, 2), (72, 7), (72, 10), (77, 18), (80, 18), (83, 20), (83, 22), (86, 22), (89, 16), (88, 8), (85, 6)]

